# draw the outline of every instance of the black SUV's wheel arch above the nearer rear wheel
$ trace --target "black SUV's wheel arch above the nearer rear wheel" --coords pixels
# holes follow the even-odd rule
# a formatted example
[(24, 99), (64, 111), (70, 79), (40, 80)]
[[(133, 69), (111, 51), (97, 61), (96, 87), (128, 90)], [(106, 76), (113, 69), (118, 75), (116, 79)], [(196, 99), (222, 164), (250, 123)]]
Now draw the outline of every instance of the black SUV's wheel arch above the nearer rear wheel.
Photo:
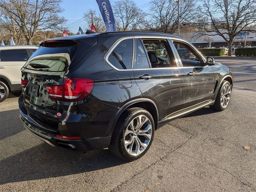
[(139, 99), (135, 99), (130, 102), (127, 102), (118, 110), (118, 112), (116, 113), (116, 116), (113, 118), (112, 122), (110, 123), (109, 136), (112, 135), (112, 132), (114, 130), (116, 122), (118, 121), (118, 119), (120, 118), (122, 113), (126, 109), (134, 108), (134, 107), (144, 108), (145, 110), (150, 112), (150, 114), (152, 115), (152, 117), (154, 119), (155, 129), (157, 129), (157, 122), (159, 121), (159, 114), (158, 114), (158, 108), (157, 108), (155, 102), (148, 98), (139, 98)]

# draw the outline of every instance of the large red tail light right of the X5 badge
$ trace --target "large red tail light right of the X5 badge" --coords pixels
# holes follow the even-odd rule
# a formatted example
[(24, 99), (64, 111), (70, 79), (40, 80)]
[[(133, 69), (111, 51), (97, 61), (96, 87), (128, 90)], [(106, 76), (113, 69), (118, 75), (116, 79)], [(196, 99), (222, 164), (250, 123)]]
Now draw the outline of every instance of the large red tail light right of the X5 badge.
[(46, 90), (54, 100), (75, 102), (88, 96), (93, 86), (91, 79), (64, 79), (63, 85), (47, 86)]

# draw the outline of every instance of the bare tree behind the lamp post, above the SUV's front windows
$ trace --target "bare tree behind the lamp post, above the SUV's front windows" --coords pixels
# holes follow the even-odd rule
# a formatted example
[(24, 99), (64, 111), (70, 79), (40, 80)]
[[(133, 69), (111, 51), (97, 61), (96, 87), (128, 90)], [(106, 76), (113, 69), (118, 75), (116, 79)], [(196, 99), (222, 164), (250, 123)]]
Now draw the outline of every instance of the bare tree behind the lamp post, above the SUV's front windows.
[[(152, 0), (150, 20), (147, 22), (151, 30), (174, 33), (178, 29), (178, 6), (174, 0)], [(181, 0), (179, 10), (180, 24), (190, 22), (194, 18), (195, 0)]]

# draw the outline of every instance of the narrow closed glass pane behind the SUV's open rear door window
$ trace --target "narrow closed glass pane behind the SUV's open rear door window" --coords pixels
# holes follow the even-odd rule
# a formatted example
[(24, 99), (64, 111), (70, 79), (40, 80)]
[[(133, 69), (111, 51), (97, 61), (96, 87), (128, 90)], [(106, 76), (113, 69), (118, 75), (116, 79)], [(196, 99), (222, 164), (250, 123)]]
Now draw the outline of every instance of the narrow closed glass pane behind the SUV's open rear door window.
[(147, 53), (145, 52), (144, 45), (140, 41), (139, 38), (135, 39), (135, 46), (134, 46), (134, 62), (133, 68), (134, 69), (146, 69), (150, 68), (147, 58)]

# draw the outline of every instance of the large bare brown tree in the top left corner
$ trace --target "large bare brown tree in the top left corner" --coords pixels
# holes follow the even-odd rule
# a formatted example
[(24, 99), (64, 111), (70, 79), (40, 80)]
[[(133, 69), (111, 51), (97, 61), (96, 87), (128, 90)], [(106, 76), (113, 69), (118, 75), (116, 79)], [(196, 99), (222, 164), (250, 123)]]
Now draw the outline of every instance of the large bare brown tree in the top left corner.
[(60, 29), (66, 22), (64, 17), (58, 16), (58, 13), (63, 12), (61, 2), (62, 0), (0, 0), (0, 10), (6, 13), (0, 17), (6, 22), (13, 20), (24, 34), (27, 44), (32, 44), (38, 30)]

